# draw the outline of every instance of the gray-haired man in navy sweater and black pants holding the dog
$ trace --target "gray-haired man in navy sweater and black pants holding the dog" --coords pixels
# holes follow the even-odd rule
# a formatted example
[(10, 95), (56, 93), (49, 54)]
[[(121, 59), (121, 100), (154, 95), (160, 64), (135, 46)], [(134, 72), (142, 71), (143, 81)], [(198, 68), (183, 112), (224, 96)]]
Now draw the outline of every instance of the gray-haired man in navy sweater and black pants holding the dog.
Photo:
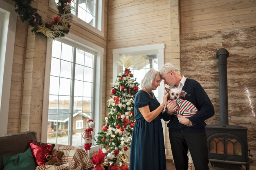
[(189, 118), (182, 115), (175, 116), (173, 113), (177, 109), (177, 104), (172, 101), (168, 103), (167, 111), (162, 115), (164, 121), (169, 121), (167, 126), (176, 170), (188, 169), (188, 150), (195, 170), (209, 170), (204, 121), (214, 115), (211, 100), (197, 81), (180, 75), (171, 63), (162, 66), (160, 75), (164, 84), (186, 91), (187, 95), (183, 99), (188, 100), (198, 109), (198, 113)]

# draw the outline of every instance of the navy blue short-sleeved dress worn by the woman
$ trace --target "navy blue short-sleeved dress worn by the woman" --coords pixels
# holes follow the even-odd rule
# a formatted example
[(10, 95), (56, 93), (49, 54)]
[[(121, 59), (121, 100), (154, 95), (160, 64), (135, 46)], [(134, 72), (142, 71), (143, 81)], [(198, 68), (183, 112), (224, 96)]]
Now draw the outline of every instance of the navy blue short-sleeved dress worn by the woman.
[[(149, 93), (153, 96), (153, 93)], [(145, 91), (138, 91), (134, 99), (135, 126), (132, 132), (129, 170), (166, 170), (162, 113), (148, 123), (138, 108), (149, 106), (150, 111), (159, 107)]]

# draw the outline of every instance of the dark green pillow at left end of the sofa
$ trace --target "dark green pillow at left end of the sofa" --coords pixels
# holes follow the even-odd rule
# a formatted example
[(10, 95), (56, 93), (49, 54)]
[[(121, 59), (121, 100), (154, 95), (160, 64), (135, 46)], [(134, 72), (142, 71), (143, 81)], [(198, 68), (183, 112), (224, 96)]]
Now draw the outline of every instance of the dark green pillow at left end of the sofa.
[(31, 149), (26, 152), (13, 156), (2, 155), (4, 170), (35, 170), (36, 163), (34, 161)]

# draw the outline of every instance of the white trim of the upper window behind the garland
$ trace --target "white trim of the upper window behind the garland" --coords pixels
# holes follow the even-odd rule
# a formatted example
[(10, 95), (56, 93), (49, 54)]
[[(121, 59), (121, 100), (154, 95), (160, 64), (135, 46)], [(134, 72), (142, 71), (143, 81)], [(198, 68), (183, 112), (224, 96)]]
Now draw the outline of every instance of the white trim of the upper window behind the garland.
[[(95, 28), (94, 26), (91, 26), (90, 24), (86, 23), (85, 21), (81, 20), (80, 18), (74, 16), (74, 20), (81, 24), (82, 26), (84, 26), (85, 28), (88, 28), (89, 30), (93, 31), (94, 33), (99, 34), (101, 37), (104, 37), (104, 5), (105, 2), (104, 0), (98, 0), (98, 6), (101, 7), (101, 10), (97, 10), (97, 28)], [(56, 4), (55, 4), (55, 0), (49, 0), (49, 7), (54, 9), (55, 11), (58, 12), (57, 8), (56, 8)], [(71, 24), (71, 29), (72, 29), (72, 24)]]

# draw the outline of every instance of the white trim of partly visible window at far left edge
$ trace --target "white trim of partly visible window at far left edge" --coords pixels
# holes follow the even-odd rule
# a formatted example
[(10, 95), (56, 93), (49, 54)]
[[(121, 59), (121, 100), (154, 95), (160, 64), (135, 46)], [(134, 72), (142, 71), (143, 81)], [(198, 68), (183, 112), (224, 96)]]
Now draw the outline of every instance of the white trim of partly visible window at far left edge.
[(6, 135), (17, 13), (13, 5), (0, 4), (0, 135)]

